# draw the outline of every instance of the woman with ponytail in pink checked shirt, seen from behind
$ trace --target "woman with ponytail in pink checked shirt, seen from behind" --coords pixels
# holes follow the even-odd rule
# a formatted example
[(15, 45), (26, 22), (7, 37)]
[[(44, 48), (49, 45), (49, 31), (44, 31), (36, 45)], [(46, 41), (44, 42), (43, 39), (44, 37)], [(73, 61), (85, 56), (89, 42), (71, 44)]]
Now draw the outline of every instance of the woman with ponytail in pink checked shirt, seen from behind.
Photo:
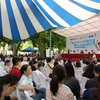
[(56, 65), (53, 68), (50, 86), (47, 88), (47, 100), (74, 100), (72, 92), (63, 85), (65, 78), (65, 68), (61, 65)]

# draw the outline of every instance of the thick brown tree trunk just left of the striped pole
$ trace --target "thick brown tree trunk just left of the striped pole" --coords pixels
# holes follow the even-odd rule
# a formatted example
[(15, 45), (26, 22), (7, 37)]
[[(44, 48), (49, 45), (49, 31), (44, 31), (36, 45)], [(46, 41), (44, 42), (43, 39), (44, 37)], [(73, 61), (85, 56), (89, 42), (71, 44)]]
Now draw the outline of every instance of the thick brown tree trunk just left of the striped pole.
[(44, 57), (44, 47), (43, 47), (43, 44), (41, 42), (41, 39), (42, 39), (42, 33), (38, 33), (38, 48), (39, 48), (39, 51), (40, 51), (40, 56), (41, 57)]

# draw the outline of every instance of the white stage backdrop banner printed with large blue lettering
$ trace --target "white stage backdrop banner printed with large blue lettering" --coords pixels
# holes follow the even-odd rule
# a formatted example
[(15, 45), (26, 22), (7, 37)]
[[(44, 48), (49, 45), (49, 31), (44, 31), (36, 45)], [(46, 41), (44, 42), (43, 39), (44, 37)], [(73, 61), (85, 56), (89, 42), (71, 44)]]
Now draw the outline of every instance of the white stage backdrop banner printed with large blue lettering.
[(66, 48), (70, 53), (100, 53), (100, 32), (67, 37)]

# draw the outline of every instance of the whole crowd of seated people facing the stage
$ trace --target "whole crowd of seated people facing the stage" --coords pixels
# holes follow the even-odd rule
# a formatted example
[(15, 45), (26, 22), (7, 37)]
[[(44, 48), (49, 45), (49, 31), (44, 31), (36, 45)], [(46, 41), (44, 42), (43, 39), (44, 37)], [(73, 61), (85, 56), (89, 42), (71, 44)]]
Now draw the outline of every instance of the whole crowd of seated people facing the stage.
[(100, 100), (100, 58), (0, 59), (0, 100)]

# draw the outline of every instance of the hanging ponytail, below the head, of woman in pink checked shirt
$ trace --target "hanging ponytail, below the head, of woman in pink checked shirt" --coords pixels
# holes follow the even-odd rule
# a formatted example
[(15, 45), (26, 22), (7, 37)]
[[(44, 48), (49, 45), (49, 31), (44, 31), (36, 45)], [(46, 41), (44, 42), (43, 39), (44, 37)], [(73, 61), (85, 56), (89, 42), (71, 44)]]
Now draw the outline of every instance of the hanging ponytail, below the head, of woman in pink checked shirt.
[(52, 77), (52, 80), (50, 82), (50, 90), (52, 94), (56, 96), (56, 93), (58, 92), (57, 76)]

